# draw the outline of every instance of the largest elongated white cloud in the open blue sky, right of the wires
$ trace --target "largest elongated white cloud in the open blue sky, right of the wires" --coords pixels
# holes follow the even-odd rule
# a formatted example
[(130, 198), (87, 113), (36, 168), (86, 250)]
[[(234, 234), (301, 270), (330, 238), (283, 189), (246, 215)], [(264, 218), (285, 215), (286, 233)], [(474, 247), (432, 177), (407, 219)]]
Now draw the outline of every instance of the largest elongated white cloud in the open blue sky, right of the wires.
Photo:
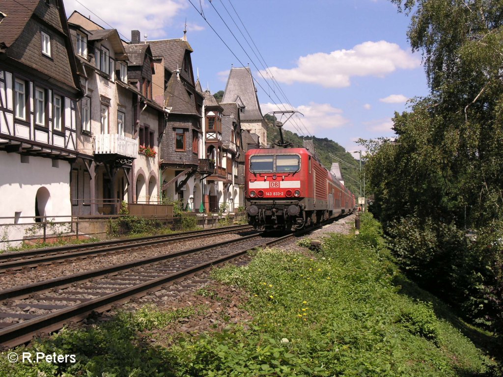
[[(419, 59), (412, 57), (396, 43), (369, 41), (351, 50), (301, 56), (297, 67), (271, 67), (269, 72), (276, 80), (287, 84), (307, 82), (324, 87), (345, 87), (351, 85), (350, 79), (354, 76), (384, 77), (397, 69), (414, 69), (420, 64)], [(265, 71), (261, 73), (264, 76), (267, 74)]]

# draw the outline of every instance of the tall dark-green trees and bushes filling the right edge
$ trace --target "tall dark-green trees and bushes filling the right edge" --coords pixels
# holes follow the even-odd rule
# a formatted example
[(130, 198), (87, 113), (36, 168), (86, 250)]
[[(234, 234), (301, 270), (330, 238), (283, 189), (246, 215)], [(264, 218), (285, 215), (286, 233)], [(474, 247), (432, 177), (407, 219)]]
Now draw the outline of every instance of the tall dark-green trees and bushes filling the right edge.
[(503, 3), (392, 3), (431, 93), (395, 114), (393, 142), (362, 141), (371, 211), (409, 277), (503, 334)]

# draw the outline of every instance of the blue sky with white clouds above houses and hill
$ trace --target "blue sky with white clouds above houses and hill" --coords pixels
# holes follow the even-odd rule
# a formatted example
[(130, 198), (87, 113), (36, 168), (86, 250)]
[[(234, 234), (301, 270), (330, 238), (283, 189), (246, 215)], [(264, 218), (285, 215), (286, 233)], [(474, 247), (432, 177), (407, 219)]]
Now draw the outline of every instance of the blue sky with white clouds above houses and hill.
[(285, 128), (347, 150), (360, 148), (358, 138), (392, 137), (394, 112), (428, 94), (421, 54), (407, 43), (409, 19), (387, 0), (151, 0), (140, 9), (137, 2), (64, 1), (68, 15), (91, 16), (125, 40), (133, 29), (147, 41), (180, 38), (187, 24), (203, 88), (223, 90), (231, 64), (249, 63), (264, 114), (298, 110), (304, 117)]

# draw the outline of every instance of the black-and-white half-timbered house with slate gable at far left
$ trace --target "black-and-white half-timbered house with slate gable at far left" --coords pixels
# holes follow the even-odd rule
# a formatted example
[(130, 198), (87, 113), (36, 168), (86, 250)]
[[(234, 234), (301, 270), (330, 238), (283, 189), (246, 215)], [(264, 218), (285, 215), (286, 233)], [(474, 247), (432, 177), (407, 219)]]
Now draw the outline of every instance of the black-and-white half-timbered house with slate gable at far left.
[(68, 216), (76, 100), (82, 91), (63, 2), (6, 0), (2, 13), (2, 216), (19, 224)]

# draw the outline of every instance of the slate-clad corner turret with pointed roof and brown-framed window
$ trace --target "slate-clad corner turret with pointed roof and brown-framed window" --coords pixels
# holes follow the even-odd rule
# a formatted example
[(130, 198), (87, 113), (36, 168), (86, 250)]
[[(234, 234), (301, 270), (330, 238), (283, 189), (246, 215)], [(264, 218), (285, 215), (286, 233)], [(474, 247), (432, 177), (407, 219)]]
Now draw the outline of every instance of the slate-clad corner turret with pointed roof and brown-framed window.
[(164, 109), (169, 113), (160, 137), (161, 190), (164, 197), (182, 200), (186, 208), (192, 205), (193, 210), (203, 200), (205, 190), (201, 175), (204, 171), (199, 168), (200, 158), (204, 159), (203, 97), (195, 87), (190, 55), (193, 50), (185, 36), (148, 43), (152, 55), (162, 57), (164, 62)]

